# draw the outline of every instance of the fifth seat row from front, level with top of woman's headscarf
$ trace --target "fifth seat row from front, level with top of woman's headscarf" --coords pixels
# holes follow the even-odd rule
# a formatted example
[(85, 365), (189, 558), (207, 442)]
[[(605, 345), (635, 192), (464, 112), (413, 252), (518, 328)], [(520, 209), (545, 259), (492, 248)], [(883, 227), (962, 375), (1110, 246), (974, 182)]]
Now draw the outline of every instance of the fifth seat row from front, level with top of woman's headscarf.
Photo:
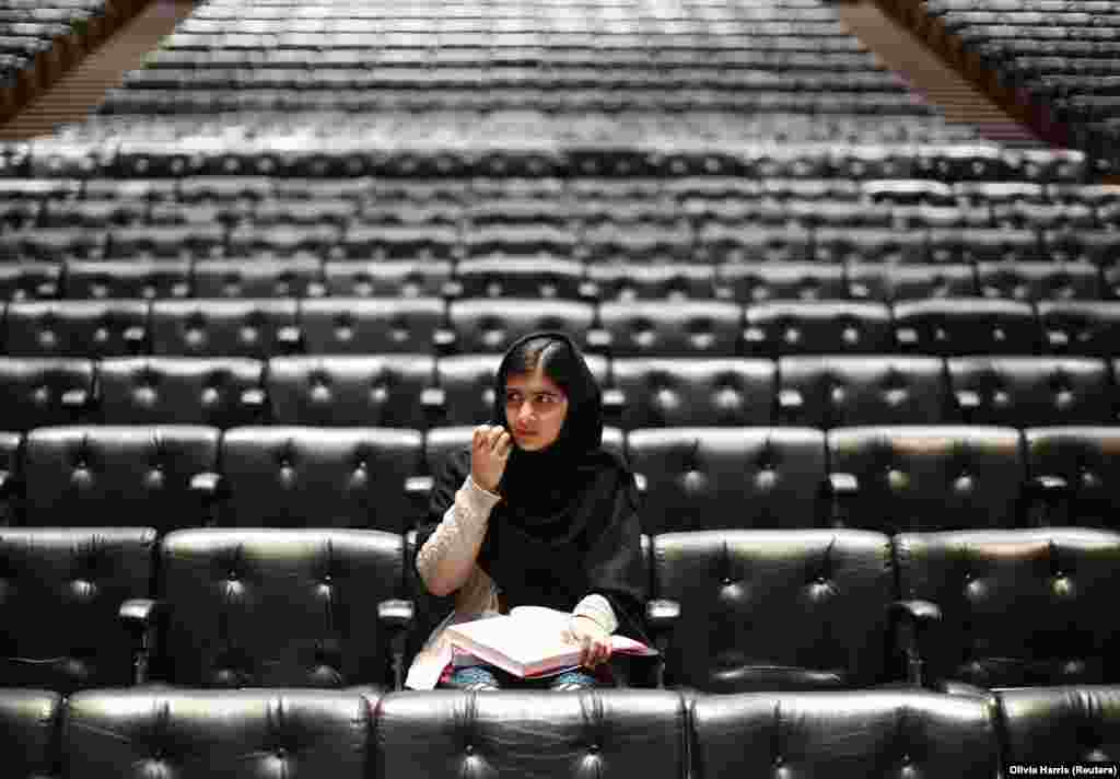
[(503, 352), (563, 330), (626, 356), (1116, 355), (1120, 303), (990, 298), (897, 303), (539, 298), (34, 300), (4, 309), (0, 354), (111, 358)]

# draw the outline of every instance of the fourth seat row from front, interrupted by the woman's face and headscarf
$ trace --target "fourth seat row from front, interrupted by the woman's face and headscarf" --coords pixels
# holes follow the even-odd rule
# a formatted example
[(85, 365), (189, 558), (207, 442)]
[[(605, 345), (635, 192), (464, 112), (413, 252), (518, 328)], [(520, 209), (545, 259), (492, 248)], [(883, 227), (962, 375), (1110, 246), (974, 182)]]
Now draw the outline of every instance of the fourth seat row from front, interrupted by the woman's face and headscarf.
[[(0, 430), (72, 424), (428, 429), (494, 407), (501, 355), (0, 358)], [(1112, 425), (1092, 358), (588, 358), (608, 425)]]

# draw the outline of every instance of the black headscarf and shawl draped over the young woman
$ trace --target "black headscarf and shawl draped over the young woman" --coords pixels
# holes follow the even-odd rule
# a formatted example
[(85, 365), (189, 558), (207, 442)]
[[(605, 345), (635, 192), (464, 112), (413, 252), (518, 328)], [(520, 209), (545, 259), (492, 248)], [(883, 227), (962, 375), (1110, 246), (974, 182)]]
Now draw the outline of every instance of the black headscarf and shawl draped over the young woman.
[[(495, 377), (489, 421), (508, 427), (505, 381), (524, 370), (511, 364), (511, 356), (534, 339), (556, 342), (542, 353), (545, 374), (557, 359), (554, 350), (568, 350), (573, 358), (576, 370), (562, 380), (553, 379), (568, 397), (568, 411), (559, 437), (545, 449), (525, 452), (514, 446), (478, 565), (497, 585), (505, 608), (544, 605), (570, 611), (585, 595), (597, 593), (614, 609), (618, 632), (643, 638), (640, 615), (645, 586), (634, 475), (620, 456), (603, 448), (601, 393), (570, 336), (533, 333), (510, 347)], [(437, 475), (429, 522), (420, 528), (418, 545), (435, 530), (469, 473), (469, 448), (449, 457)], [(439, 611), (447, 613), (450, 605)]]

